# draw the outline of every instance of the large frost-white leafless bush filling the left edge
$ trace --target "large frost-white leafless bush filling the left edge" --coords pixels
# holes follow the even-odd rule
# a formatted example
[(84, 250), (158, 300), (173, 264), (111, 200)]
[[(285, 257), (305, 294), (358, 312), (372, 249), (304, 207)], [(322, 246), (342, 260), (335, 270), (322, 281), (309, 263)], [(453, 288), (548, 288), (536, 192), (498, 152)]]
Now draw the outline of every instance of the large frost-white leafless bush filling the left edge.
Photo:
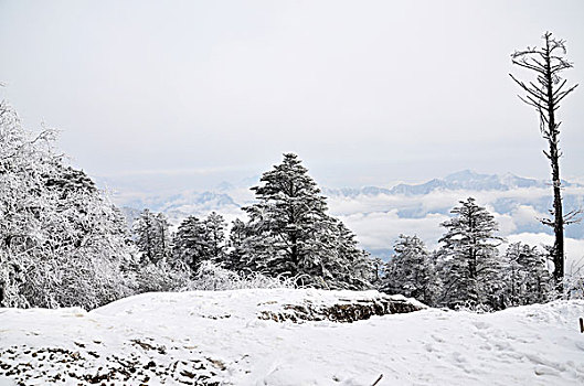
[(0, 307), (92, 309), (131, 293), (115, 206), (0, 103)]

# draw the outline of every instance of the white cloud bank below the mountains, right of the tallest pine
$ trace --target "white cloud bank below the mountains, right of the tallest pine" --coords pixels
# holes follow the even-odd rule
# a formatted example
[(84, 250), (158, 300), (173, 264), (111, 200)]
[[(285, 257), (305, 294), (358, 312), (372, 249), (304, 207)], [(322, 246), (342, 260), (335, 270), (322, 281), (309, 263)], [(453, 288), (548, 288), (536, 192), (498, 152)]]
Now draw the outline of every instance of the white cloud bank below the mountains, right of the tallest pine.
[[(584, 194), (583, 187), (567, 187), (565, 194)], [(533, 224), (539, 225), (542, 213), (535, 211), (531, 205), (520, 204), (511, 213), (500, 214), (493, 211), (492, 204), (499, 199), (517, 200), (529, 203), (541, 197), (549, 197), (549, 189), (516, 189), (509, 191), (435, 191), (426, 195), (358, 195), (355, 197), (333, 196), (329, 197), (329, 207), (333, 215), (341, 218), (357, 235), (365, 249), (391, 248), (400, 234), (418, 235), (431, 248), (438, 244), (444, 234), (439, 224), (447, 218), (447, 212), (458, 205), (460, 200), (472, 196), (479, 205), (486, 206), (499, 224), (499, 235), (516, 239), (516, 234), (521, 227)], [(424, 214), (421, 218), (405, 218), (400, 216), (400, 211), (420, 211)], [(446, 214), (437, 214), (436, 211)], [(410, 216), (408, 216), (410, 217)], [(527, 235), (530, 240), (543, 237), (549, 239), (550, 235)], [(540, 237), (540, 238), (541, 238)], [(584, 244), (584, 242), (583, 242)], [(567, 245), (567, 244), (566, 244)], [(584, 250), (576, 242), (570, 242), (566, 248), (575, 253)], [(570, 249), (569, 253), (571, 251)]]

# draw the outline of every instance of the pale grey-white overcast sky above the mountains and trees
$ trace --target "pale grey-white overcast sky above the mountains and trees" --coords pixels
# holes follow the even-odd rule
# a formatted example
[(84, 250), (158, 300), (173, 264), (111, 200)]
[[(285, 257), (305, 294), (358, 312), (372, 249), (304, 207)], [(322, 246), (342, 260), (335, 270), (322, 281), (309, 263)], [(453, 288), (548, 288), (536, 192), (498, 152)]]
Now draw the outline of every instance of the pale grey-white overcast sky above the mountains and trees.
[[(329, 186), (544, 179), (509, 55), (550, 30), (584, 83), (583, 20), (580, 0), (0, 0), (0, 94), (92, 175), (200, 187), (293, 151)], [(560, 119), (562, 174), (583, 178), (584, 85)]]

